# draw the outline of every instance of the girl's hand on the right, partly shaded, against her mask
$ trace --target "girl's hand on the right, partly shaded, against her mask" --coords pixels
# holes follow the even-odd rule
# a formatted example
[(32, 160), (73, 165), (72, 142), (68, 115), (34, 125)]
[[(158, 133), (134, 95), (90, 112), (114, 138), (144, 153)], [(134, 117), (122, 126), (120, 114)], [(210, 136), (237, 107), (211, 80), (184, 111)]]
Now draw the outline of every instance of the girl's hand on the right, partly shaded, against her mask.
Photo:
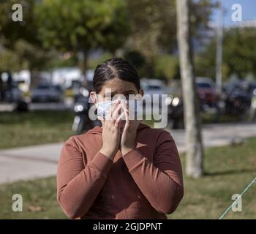
[(135, 147), (135, 137), (137, 135), (137, 129), (140, 125), (140, 120), (129, 120), (129, 111), (127, 106), (123, 103), (123, 110), (125, 114), (125, 126), (121, 135), (121, 154), (127, 154), (132, 148)]

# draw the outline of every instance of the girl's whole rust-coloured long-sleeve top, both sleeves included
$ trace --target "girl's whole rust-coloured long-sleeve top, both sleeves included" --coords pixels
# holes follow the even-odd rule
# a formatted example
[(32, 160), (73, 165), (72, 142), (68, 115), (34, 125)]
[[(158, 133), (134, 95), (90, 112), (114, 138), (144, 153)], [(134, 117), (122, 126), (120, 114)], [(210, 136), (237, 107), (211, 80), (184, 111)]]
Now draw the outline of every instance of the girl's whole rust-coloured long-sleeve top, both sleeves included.
[(102, 128), (64, 143), (57, 200), (71, 219), (166, 219), (184, 195), (181, 162), (169, 132), (140, 124), (135, 148), (110, 160)]

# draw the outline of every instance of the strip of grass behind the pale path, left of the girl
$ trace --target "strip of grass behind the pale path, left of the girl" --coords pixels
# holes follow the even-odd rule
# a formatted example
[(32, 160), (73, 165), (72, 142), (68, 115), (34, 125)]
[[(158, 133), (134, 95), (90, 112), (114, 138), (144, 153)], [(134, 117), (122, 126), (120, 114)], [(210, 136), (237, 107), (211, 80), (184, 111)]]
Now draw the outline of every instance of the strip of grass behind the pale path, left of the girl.
[(67, 140), (73, 135), (73, 115), (71, 111), (0, 113), (0, 148)]

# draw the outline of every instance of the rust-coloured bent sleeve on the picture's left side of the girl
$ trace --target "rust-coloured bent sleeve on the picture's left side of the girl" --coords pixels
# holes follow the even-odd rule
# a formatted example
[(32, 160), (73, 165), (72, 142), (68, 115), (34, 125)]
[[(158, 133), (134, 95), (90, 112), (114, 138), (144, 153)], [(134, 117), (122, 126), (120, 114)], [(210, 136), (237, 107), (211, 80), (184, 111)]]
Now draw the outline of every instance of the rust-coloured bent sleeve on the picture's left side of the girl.
[(61, 149), (57, 170), (57, 200), (71, 219), (89, 211), (108, 176), (113, 161), (98, 152), (86, 166), (78, 144), (70, 137)]

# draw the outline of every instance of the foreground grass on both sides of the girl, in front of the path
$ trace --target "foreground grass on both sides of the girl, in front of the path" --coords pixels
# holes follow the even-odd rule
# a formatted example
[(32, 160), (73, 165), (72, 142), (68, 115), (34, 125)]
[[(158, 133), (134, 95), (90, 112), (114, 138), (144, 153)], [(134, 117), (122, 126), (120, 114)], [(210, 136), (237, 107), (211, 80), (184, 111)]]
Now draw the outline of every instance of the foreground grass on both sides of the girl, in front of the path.
[[(184, 155), (181, 155), (184, 167)], [(233, 202), (231, 196), (256, 176), (256, 137), (241, 146), (206, 149), (206, 176), (184, 178), (185, 195), (170, 219), (217, 219)], [(23, 195), (23, 212), (12, 211), (12, 195)], [(256, 184), (243, 197), (243, 211), (230, 211), (226, 219), (256, 219)], [(0, 185), (1, 219), (63, 219), (56, 202), (55, 178)]]

